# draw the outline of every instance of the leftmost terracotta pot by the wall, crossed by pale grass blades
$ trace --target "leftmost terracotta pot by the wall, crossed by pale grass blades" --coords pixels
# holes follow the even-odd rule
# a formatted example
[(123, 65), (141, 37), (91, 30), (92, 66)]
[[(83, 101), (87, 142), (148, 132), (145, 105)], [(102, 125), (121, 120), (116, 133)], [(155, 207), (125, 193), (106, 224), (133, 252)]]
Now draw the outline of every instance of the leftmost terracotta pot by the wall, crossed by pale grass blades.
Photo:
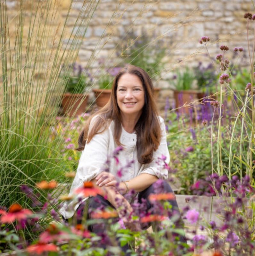
[(88, 95), (65, 93), (62, 97), (62, 112), (68, 116), (81, 115), (86, 111)]

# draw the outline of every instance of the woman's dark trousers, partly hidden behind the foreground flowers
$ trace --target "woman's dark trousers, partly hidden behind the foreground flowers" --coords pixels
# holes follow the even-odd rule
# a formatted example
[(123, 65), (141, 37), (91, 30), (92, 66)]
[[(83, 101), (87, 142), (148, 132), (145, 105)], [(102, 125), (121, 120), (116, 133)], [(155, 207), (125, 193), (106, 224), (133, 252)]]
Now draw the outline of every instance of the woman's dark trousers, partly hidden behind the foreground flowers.
[[(163, 181), (163, 186), (164, 186), (164, 193), (173, 193), (173, 190), (171, 189), (171, 187), (167, 181)], [(153, 205), (149, 200), (150, 194), (156, 194), (153, 184), (151, 186), (149, 186), (148, 188), (146, 188), (145, 190), (138, 193), (138, 202), (139, 203), (143, 202), (146, 204), (146, 212), (147, 213), (149, 211), (152, 211), (152, 214), (155, 214), (153, 212)], [(180, 211), (179, 211), (179, 208), (177, 205), (177, 201), (175, 199), (168, 200), (168, 201), (172, 205), (172, 208), (170, 211), (171, 214), (173, 214), (175, 216), (178, 215), (178, 220), (175, 223), (176, 224), (175, 226), (177, 228), (183, 228), (183, 221), (180, 216)], [(111, 205), (111, 203), (109, 201), (107, 201), (106, 199), (104, 199), (101, 195), (97, 195), (95, 197), (90, 197), (86, 202), (80, 204), (77, 209), (78, 216), (83, 216), (85, 207), (87, 208), (87, 212), (88, 212), (87, 219), (91, 219), (90, 211), (91, 210), (93, 211), (93, 209), (104, 209), (107, 207), (111, 207), (114, 209), (114, 207)], [(171, 217), (171, 216), (169, 216), (169, 217)], [(82, 222), (81, 219), (77, 220), (78, 224), (80, 224), (81, 222)], [(144, 226), (142, 226), (142, 228), (145, 229), (145, 228), (148, 228), (149, 226), (150, 226), (150, 224), (144, 225)], [(103, 234), (103, 231), (105, 230), (105, 228), (102, 227), (102, 224), (90, 225), (88, 227), (88, 229), (97, 235)], [(184, 236), (180, 236), (180, 235), (177, 235), (177, 236), (179, 237), (179, 239), (182, 242), (184, 242), (184, 243), (186, 242), (186, 239)], [(123, 250), (123, 252), (126, 252), (128, 250), (128, 246), (126, 245), (126, 246), (122, 247), (122, 250)], [(126, 252), (125, 255), (130, 255), (130, 254), (128, 254)]]

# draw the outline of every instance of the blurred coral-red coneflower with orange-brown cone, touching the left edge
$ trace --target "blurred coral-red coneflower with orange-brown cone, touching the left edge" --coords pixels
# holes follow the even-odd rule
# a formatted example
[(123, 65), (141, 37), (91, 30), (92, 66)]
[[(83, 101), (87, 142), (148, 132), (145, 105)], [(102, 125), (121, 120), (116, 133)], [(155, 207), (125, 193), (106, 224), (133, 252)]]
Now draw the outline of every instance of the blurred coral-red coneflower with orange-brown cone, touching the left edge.
[(8, 212), (0, 210), (0, 214), (2, 214), (0, 219), (1, 223), (12, 223), (15, 220), (20, 221), (27, 219), (33, 212), (29, 209), (22, 209), (19, 204), (12, 204)]

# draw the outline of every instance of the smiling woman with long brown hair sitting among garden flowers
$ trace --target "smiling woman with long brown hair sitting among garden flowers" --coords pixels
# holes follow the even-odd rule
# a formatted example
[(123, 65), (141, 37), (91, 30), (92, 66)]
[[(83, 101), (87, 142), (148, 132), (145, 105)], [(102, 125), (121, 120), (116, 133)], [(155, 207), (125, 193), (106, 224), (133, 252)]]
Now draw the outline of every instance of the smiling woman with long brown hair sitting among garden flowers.
[[(163, 156), (168, 163), (169, 151), (164, 121), (158, 116), (148, 74), (133, 65), (123, 68), (113, 81), (110, 101), (90, 120), (79, 138), (80, 148), (84, 150), (70, 193), (84, 182), (92, 181), (96, 187), (103, 189), (107, 199), (101, 195), (91, 197), (86, 201), (89, 209), (102, 206), (118, 209), (118, 202), (121, 201), (126, 205), (127, 212), (132, 212), (129, 202), (123, 197), (130, 190), (138, 193), (139, 202), (146, 200), (147, 210), (151, 208), (148, 196), (155, 193), (153, 183), (168, 177), (168, 170), (159, 166), (159, 159)], [(115, 161), (109, 163), (108, 156), (112, 152), (115, 155), (118, 153), (117, 161), (128, 161), (121, 174)], [(108, 168), (105, 163), (108, 163), (109, 170), (103, 171)], [(120, 183), (118, 176), (121, 176)], [(166, 181), (163, 188), (165, 192), (172, 192)], [(179, 214), (176, 200), (169, 202)], [(71, 218), (75, 210), (82, 211), (84, 205), (75, 205), (74, 202), (64, 205), (61, 209), (63, 218)], [(88, 218), (91, 218), (90, 214)], [(100, 232), (96, 225), (91, 229), (95, 233)]]

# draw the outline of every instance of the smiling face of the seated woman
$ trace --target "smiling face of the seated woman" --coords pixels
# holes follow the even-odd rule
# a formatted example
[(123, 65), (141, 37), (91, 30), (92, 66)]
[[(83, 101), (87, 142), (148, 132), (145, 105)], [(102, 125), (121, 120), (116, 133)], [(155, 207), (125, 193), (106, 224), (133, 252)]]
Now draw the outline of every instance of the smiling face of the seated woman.
[(144, 107), (144, 87), (138, 76), (125, 73), (119, 78), (117, 103), (122, 115), (141, 115)]

